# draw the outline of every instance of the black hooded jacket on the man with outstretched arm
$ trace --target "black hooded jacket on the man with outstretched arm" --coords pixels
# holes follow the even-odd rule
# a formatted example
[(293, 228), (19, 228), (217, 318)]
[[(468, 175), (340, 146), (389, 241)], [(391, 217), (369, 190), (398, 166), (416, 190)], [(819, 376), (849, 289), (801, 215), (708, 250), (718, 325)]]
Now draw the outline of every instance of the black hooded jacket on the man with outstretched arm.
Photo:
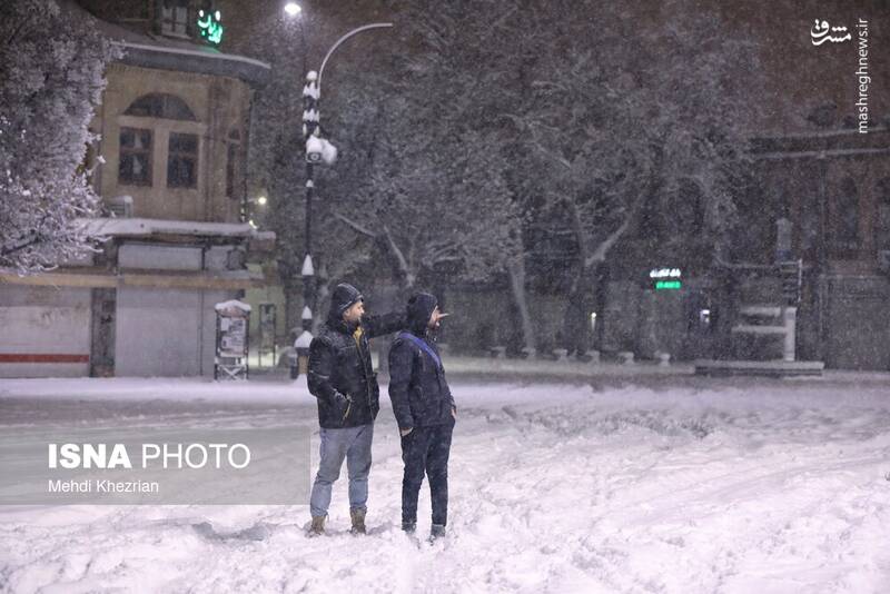
[(368, 338), (404, 327), (405, 316), (386, 314), (362, 318), (348, 326), (343, 314), (362, 300), (352, 285), (337, 285), (330, 311), (318, 336), (309, 345), (309, 392), (318, 399), (318, 424), (325, 428), (357, 427), (373, 423), (380, 409), (377, 374), (370, 362)]

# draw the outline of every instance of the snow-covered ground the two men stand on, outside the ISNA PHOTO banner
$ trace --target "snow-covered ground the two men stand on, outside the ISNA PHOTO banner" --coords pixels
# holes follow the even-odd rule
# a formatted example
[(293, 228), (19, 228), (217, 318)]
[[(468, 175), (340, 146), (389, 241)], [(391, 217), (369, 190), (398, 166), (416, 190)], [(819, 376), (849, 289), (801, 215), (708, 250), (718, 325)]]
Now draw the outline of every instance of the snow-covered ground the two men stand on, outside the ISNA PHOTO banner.
[[(454, 382), (449, 536), (433, 545), (398, 531), (402, 461), (384, 408), (368, 536), (347, 532), (344, 479), (323, 538), (304, 535), (307, 506), (9, 506), (0, 587), (890, 592), (890, 384), (645, 385)], [(3, 426), (273, 427), (310, 422), (310, 406), (305, 386), (289, 383), (0, 383)], [(422, 535), (428, 509), (423, 492)]]

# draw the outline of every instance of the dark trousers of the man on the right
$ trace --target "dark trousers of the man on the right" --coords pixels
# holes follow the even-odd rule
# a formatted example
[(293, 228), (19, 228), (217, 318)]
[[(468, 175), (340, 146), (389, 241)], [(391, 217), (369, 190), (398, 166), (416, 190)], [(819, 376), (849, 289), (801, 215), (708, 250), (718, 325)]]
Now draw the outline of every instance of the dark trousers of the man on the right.
[(452, 448), (454, 423), (432, 427), (414, 427), (402, 437), (402, 461), (405, 475), (402, 479), (402, 522), (417, 522), (417, 496), (424, 482), (429, 479), (433, 503), (433, 524), (445, 525), (448, 519), (448, 454)]

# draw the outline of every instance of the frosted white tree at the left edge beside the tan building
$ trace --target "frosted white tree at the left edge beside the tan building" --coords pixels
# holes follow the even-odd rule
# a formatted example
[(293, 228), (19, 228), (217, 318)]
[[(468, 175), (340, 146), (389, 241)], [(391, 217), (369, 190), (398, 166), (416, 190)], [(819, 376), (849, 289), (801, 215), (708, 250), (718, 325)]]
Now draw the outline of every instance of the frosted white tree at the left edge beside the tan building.
[(72, 17), (53, 0), (0, 9), (0, 267), (19, 274), (92, 249), (77, 222), (99, 205), (88, 126), (119, 51)]

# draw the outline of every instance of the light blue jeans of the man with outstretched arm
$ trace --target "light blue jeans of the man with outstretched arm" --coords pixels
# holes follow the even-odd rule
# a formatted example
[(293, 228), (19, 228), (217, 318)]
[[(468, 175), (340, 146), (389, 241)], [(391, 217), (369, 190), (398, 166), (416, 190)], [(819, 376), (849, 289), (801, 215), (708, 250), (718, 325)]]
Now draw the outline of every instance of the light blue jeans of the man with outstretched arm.
[(343, 429), (322, 427), (322, 462), (313, 484), (309, 511), (313, 517), (327, 515), (330, 487), (340, 476), (343, 458), (349, 474), (349, 508), (366, 511), (368, 501), (368, 473), (370, 472), (370, 442), (374, 423)]

